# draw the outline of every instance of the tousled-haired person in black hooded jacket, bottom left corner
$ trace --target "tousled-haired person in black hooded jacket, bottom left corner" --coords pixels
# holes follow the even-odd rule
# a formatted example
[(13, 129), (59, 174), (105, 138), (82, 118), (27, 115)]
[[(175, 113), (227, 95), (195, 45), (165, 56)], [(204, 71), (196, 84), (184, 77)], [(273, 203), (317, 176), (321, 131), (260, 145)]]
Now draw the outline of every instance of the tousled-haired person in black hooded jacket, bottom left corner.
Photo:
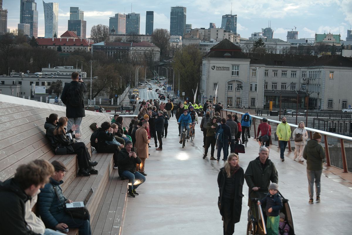
[(40, 235), (27, 228), (25, 203), (49, 182), (53, 171), (29, 162), (20, 165), (13, 178), (0, 182), (1, 234)]

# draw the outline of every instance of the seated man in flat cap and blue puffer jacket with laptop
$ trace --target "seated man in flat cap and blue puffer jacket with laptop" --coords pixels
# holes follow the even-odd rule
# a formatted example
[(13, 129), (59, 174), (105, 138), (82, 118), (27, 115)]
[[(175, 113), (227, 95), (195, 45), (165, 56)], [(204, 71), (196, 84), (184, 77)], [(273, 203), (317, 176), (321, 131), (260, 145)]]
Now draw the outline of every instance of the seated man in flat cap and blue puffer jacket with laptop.
[(60, 185), (67, 172), (67, 168), (60, 161), (53, 161), (55, 172), (50, 178), (50, 182), (40, 190), (38, 194), (38, 212), (45, 226), (50, 229), (65, 231), (69, 228), (78, 228), (79, 235), (91, 235), (89, 219), (83, 220), (73, 218), (66, 214), (63, 206), (65, 203), (72, 203), (70, 199), (64, 197)]

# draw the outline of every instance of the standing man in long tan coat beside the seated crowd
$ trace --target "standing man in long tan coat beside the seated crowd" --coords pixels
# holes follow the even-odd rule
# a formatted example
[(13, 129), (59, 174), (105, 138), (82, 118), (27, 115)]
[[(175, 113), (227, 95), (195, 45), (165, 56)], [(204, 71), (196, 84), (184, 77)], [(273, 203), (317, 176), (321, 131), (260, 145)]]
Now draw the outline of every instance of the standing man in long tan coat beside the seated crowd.
[(136, 154), (140, 158), (141, 162), (136, 166), (136, 171), (141, 173), (142, 175), (147, 175), (144, 172), (144, 162), (145, 159), (148, 158), (149, 155), (149, 140), (148, 140), (148, 133), (147, 128), (149, 123), (147, 121), (143, 121), (142, 126), (136, 130), (136, 144), (134, 148), (136, 149)]

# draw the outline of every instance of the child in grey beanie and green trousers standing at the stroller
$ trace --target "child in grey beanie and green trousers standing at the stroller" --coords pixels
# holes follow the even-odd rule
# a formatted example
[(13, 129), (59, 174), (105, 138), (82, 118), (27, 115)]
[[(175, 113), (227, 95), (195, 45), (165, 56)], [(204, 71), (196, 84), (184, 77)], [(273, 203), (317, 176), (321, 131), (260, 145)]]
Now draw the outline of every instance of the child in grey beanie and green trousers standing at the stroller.
[(266, 219), (266, 233), (268, 235), (279, 234), (279, 213), (282, 208), (282, 199), (277, 193), (279, 186), (276, 183), (269, 185), (269, 193), (266, 197), (258, 202), (258, 205), (265, 205)]

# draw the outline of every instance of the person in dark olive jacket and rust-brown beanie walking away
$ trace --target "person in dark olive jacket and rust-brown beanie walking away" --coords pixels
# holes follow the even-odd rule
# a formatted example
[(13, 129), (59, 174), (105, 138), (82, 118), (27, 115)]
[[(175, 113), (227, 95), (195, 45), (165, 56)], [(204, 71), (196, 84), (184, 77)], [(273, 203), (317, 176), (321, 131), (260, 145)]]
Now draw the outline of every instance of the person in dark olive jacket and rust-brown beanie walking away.
[(313, 204), (314, 181), (316, 201), (320, 202), (320, 177), (323, 171), (323, 160), (325, 159), (325, 151), (320, 142), (321, 135), (315, 132), (313, 140), (309, 140), (303, 150), (303, 158), (307, 160), (309, 204)]

